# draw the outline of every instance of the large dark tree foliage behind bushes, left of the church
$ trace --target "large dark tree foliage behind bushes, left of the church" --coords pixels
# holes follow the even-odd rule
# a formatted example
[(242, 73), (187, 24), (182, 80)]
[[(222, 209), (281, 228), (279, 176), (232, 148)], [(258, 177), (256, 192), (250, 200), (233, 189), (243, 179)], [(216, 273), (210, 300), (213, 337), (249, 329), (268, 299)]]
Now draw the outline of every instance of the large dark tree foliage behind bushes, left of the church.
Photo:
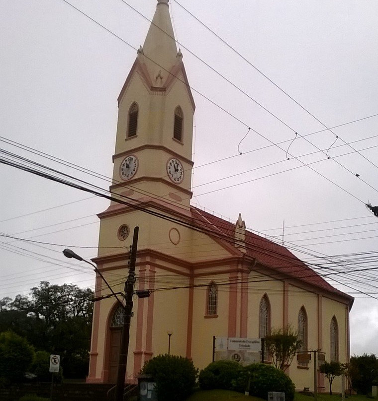
[(26, 337), (36, 350), (61, 355), (64, 375), (84, 378), (92, 330), (93, 291), (41, 281), (29, 295), (0, 300), (0, 331)]

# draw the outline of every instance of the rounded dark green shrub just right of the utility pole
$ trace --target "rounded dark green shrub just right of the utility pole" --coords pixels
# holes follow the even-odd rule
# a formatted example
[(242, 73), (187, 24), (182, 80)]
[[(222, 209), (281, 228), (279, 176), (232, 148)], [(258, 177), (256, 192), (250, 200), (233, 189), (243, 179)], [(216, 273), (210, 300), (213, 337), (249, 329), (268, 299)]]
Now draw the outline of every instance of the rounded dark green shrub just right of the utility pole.
[(144, 365), (141, 373), (155, 379), (158, 400), (177, 401), (191, 394), (198, 369), (182, 356), (158, 355)]

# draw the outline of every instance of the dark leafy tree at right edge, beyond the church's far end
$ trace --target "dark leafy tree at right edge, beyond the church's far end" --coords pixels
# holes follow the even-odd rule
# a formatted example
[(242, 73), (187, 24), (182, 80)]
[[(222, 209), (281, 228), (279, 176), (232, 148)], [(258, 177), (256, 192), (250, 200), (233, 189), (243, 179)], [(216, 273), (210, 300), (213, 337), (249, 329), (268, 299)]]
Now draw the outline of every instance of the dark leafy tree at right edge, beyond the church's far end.
[(352, 386), (360, 394), (372, 391), (372, 385), (378, 380), (378, 358), (375, 354), (363, 354), (351, 358)]

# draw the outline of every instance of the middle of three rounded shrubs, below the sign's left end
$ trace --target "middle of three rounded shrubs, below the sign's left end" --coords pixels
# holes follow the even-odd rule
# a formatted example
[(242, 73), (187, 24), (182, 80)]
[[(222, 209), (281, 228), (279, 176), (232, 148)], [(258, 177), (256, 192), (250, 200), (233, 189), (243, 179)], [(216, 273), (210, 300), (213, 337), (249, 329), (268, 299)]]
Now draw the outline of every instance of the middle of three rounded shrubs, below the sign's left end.
[(199, 372), (198, 383), (202, 390), (232, 390), (233, 381), (242, 371), (242, 366), (235, 361), (216, 361)]

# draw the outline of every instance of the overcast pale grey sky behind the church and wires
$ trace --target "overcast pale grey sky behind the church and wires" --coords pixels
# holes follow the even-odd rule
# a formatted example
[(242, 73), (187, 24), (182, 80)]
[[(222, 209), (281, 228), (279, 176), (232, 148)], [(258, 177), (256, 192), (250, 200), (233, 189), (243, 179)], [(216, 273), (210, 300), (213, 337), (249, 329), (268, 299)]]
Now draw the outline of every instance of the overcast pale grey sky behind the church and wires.
[[(111, 176), (117, 96), (156, 1), (70, 2), (106, 29), (64, 0), (0, 1), (1, 149), (106, 189), (83, 169)], [(327, 279), (356, 298), (351, 352), (377, 354), (378, 219), (364, 203), (378, 205), (378, 3), (170, 4), (196, 103), (192, 203), (278, 241), (284, 220), (316, 271), (338, 262)], [(93, 287), (61, 251), (96, 255), (108, 201), (3, 164), (0, 186), (1, 235), (29, 240), (0, 237), (0, 298), (41, 280)]]

